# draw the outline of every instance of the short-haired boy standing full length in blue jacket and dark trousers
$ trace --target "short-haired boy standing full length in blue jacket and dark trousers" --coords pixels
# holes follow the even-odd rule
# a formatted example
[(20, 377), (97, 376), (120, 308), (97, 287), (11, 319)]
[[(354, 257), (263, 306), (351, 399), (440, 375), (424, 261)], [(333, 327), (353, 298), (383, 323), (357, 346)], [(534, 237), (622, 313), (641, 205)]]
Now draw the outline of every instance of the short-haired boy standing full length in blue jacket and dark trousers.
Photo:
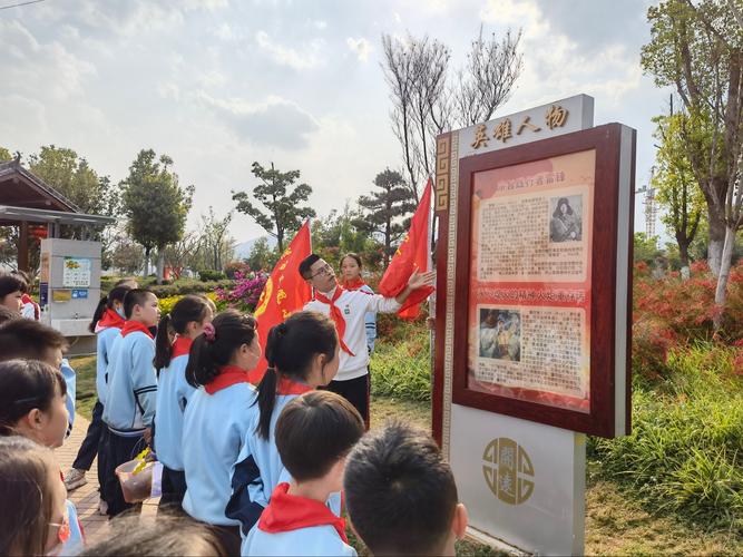
[(100, 496), (109, 517), (131, 507), (124, 500), (116, 467), (143, 450), (143, 441), (149, 443), (157, 399), (155, 341), (149, 332), (160, 316), (157, 296), (147, 290), (130, 290), (124, 296), (124, 314), (127, 321), (108, 364), (102, 414), (108, 433), (98, 456), (98, 466), (104, 469)]

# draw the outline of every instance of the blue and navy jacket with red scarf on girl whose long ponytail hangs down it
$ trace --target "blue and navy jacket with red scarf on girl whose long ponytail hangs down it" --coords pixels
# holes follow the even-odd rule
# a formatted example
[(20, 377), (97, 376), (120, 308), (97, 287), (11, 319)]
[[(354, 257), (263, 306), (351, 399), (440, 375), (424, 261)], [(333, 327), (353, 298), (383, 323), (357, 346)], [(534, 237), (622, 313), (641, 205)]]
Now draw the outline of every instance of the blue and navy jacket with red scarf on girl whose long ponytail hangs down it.
[(248, 410), (248, 428), (243, 448), (231, 471), (233, 495), (225, 509), (227, 517), (239, 520), (243, 536), (247, 535), (268, 505), (271, 494), (278, 482), (289, 480), (289, 472), (276, 449), (278, 416), (290, 401), (311, 390), (311, 387), (286, 379), (278, 381), (268, 439), (263, 439), (257, 433), (261, 418), (258, 405), (254, 404)]

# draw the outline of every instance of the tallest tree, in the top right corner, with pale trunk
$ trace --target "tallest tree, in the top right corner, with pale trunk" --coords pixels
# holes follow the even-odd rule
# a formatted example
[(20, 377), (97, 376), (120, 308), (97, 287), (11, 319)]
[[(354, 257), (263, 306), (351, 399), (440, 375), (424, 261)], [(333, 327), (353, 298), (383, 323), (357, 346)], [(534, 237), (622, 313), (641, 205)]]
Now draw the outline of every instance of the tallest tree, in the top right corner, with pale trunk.
[[(743, 0), (666, 0), (651, 7), (651, 42), (642, 51), (645, 71), (658, 86), (676, 88), (693, 124), (687, 156), (707, 205), (708, 260), (720, 306), (743, 226), (743, 27), (736, 20), (742, 7)], [(722, 312), (716, 315), (720, 326)]]

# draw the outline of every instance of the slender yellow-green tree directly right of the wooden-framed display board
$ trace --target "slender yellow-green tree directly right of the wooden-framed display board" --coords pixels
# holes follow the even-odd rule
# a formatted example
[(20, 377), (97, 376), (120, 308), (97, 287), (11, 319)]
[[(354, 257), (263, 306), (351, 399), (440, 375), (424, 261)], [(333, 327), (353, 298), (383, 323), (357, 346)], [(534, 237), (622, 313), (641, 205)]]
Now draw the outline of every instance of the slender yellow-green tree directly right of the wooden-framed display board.
[(655, 174), (651, 186), (657, 190), (657, 201), (667, 211), (661, 219), (678, 244), (682, 275), (688, 277), (688, 247), (694, 241), (705, 213), (704, 195), (686, 156), (684, 136), (687, 135), (684, 113), (654, 118), (654, 137), (659, 140), (655, 154)]

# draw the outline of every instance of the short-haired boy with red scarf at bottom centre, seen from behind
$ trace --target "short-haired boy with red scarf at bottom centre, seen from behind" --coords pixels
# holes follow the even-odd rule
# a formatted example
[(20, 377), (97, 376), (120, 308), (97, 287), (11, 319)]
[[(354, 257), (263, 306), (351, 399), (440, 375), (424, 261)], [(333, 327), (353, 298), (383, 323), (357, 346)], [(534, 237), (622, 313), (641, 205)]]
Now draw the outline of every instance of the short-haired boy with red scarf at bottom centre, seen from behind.
[(274, 489), (242, 555), (356, 555), (326, 501), (341, 490), (345, 457), (363, 432), (359, 412), (335, 393), (311, 391), (286, 404), (276, 448), (292, 479)]

